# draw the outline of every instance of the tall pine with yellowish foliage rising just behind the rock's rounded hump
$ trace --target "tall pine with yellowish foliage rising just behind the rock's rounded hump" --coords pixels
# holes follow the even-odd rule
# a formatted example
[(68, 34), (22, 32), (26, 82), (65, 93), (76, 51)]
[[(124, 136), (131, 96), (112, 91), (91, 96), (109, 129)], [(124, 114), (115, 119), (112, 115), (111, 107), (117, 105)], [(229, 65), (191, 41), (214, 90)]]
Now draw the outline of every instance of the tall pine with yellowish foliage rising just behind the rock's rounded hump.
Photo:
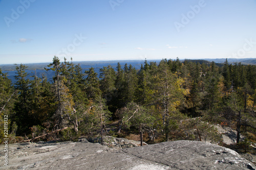
[(183, 83), (184, 80), (178, 78), (177, 74), (172, 74), (166, 60), (159, 63), (157, 75), (153, 79), (155, 91), (153, 98), (155, 105), (161, 110), (166, 141), (168, 140), (169, 120), (172, 119), (170, 115), (180, 106), (186, 94), (185, 89), (181, 86)]

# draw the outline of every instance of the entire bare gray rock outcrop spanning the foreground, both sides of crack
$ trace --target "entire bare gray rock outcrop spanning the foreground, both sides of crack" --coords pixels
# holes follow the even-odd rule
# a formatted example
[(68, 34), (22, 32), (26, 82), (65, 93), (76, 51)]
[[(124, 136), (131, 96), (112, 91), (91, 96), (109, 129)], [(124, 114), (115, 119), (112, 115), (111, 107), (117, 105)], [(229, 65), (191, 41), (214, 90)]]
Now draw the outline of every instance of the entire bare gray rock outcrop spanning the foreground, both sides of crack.
[(120, 150), (86, 140), (9, 144), (8, 149), (8, 167), (0, 159), (0, 169), (256, 169), (230, 149), (187, 140)]

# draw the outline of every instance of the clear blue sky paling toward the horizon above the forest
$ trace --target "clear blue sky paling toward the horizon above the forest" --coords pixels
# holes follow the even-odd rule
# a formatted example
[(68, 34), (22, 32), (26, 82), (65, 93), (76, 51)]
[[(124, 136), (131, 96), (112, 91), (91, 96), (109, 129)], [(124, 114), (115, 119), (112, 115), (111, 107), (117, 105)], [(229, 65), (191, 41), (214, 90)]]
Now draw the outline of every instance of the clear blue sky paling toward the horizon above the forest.
[(256, 58), (256, 0), (0, 0), (0, 64)]

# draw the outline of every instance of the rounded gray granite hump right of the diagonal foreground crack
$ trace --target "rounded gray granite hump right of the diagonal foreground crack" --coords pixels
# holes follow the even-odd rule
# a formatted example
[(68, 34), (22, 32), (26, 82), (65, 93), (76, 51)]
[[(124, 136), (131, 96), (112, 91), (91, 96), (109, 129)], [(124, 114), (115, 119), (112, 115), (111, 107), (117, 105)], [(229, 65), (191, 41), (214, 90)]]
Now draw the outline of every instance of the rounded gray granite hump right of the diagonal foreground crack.
[(252, 163), (241, 158), (237, 152), (199, 141), (162, 142), (122, 151), (174, 169), (255, 169)]

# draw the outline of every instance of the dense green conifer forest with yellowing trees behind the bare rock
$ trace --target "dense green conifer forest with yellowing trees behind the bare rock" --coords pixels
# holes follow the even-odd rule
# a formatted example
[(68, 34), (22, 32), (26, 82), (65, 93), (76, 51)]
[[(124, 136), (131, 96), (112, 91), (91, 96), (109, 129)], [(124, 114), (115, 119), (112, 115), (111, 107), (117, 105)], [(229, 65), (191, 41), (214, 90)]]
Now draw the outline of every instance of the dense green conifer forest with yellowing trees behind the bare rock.
[(98, 78), (93, 67), (84, 72), (72, 59), (54, 56), (45, 68), (55, 72), (52, 81), (36, 71), (31, 80), (26, 68), (16, 65), (15, 83), (0, 69), (0, 143), (5, 116), (10, 142), (140, 134), (148, 143), (221, 143), (217, 124), (256, 142), (255, 65), (145, 60), (139, 70), (104, 66)]

